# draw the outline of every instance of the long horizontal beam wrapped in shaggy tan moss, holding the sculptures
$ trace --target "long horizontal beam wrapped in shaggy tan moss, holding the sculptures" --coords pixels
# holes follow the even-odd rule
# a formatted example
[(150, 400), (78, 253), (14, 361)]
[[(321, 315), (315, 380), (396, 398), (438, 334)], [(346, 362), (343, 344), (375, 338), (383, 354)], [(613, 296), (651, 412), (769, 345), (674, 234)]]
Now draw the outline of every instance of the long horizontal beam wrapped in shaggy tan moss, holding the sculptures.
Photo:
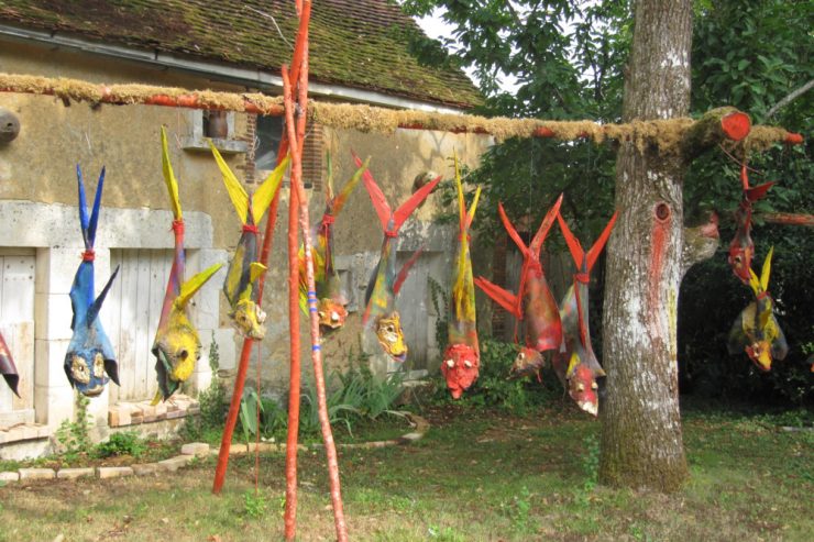
[[(194, 91), (146, 85), (94, 85), (77, 79), (0, 74), (0, 92), (2, 91), (56, 96), (63, 100), (91, 103), (219, 109), (272, 117), (284, 114), (280, 97), (262, 93)], [(562, 141), (591, 139), (595, 143), (605, 143), (608, 140), (632, 141), (642, 147), (654, 144), (662, 154), (681, 153), (685, 148), (682, 148), (685, 134), (698, 122), (692, 119), (670, 119), (600, 124), (593, 121), (544, 121), (393, 110), (314, 100), (308, 103), (308, 117), (327, 128), (361, 132), (393, 133), (397, 129), (410, 129), (486, 134), (497, 141), (509, 137), (554, 137)], [(802, 135), (780, 128), (752, 126), (751, 135), (756, 134), (761, 136), (750, 136), (747, 142), (751, 142), (746, 143), (754, 151), (766, 148), (772, 143), (798, 145), (803, 142)]]

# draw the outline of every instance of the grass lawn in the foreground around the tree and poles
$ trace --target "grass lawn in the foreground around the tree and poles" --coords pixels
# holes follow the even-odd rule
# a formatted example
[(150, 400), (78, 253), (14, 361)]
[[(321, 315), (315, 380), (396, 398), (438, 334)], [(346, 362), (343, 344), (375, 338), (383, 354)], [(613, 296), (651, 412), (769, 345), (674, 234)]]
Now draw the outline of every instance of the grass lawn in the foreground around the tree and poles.
[[(522, 418), (439, 408), (416, 444), (340, 451), (352, 540), (807, 541), (814, 432), (772, 417), (684, 416), (691, 479), (671, 496), (595, 485), (598, 423), (557, 402)], [(359, 438), (359, 435), (356, 435)], [(284, 457), (215, 458), (176, 474), (0, 488), (0, 541), (280, 540)], [(323, 453), (299, 458), (298, 534), (332, 540)]]

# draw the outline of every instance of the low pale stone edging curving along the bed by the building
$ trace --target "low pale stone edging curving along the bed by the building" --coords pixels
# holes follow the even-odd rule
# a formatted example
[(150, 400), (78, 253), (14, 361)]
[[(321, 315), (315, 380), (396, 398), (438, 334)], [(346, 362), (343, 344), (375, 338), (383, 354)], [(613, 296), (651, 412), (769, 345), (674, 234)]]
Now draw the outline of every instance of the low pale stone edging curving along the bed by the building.
[[(405, 433), (398, 439), (391, 439), (387, 441), (371, 441), (360, 442), (353, 444), (338, 444), (341, 449), (346, 450), (372, 450), (377, 447), (406, 445), (417, 442), (424, 438), (429, 430), (429, 422), (420, 416), (408, 413), (407, 419), (415, 427), (415, 431)], [(299, 444), (298, 450), (306, 452), (308, 450), (316, 450), (322, 447), (321, 443), (315, 443), (310, 446)], [(229, 455), (242, 455), (248, 452), (254, 452), (257, 449), (260, 452), (284, 452), (285, 444), (277, 444), (273, 442), (261, 442), (260, 444), (234, 444), (231, 446)], [(36, 480), (36, 479), (77, 479), (77, 478), (121, 478), (123, 476), (144, 476), (148, 474), (157, 473), (175, 473), (182, 467), (189, 465), (197, 458), (207, 457), (210, 453), (209, 444), (204, 442), (190, 442), (184, 444), (180, 447), (180, 455), (169, 457), (156, 463), (140, 463), (130, 466), (118, 466), (118, 467), (74, 467), (74, 468), (59, 468), (55, 471), (53, 468), (20, 468), (18, 471), (0, 472), (0, 482), (21, 482), (21, 480)]]

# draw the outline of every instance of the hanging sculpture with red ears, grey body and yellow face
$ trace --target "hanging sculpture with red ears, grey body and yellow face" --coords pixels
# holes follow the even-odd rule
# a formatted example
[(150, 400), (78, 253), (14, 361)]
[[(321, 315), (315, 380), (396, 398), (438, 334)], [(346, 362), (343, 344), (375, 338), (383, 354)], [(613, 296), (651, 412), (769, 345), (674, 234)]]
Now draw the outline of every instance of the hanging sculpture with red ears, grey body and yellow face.
[[(353, 154), (353, 159), (358, 167), (362, 166), (362, 161), (359, 156)], [(436, 177), (435, 180), (416, 190), (395, 212), (391, 210), (384, 193), (382, 193), (378, 185), (376, 185), (370, 170), (365, 169), (364, 174), (362, 174), (362, 180), (384, 230), (382, 254), (376, 268), (371, 275), (371, 280), (365, 292), (366, 308), (362, 317), (362, 323), (365, 327), (374, 325), (376, 338), (382, 349), (394, 361), (402, 363), (407, 358), (407, 343), (404, 340), (400, 317), (398, 311), (396, 311), (396, 296), (404, 280), (407, 278), (407, 273), (418, 258), (420, 250), (413, 255), (402, 267), (398, 275), (396, 275), (396, 239), (398, 237), (398, 230), (404, 222), (416, 210), (418, 204), (427, 198), (430, 191), (436, 188), (441, 177)]]

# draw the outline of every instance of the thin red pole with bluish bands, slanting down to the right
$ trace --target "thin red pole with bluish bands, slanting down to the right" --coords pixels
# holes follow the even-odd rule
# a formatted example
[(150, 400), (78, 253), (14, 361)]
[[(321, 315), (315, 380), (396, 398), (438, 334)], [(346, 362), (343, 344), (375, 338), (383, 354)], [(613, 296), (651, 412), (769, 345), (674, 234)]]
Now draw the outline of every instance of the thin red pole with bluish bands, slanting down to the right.
[[(302, 69), (299, 79), (299, 106), (304, 108), (307, 104), (308, 93), (308, 54), (302, 57)], [(342, 495), (339, 480), (339, 461), (337, 458), (337, 446), (333, 443), (333, 434), (328, 418), (328, 405), (326, 400), (326, 383), (322, 372), (322, 352), (319, 336), (319, 318), (317, 317), (317, 295), (314, 280), (314, 259), (311, 256), (311, 239), (308, 235), (310, 224), (308, 219), (308, 201), (302, 187), (302, 164), (301, 147), (297, 141), (297, 126), (294, 124), (294, 99), (292, 98), (292, 84), (288, 73), (283, 67), (283, 97), (286, 108), (286, 128), (288, 130), (288, 141), (292, 145), (292, 190), (297, 190), (299, 199), (299, 224), (304, 232), (305, 257), (306, 257), (306, 283), (308, 284), (308, 313), (310, 316), (311, 332), (311, 363), (314, 365), (314, 379), (317, 387), (317, 403), (319, 407), (319, 424), (322, 430), (322, 441), (324, 443), (326, 456), (328, 460), (328, 477), (331, 488), (331, 502), (333, 505), (333, 522), (337, 530), (337, 540), (346, 542), (348, 530), (344, 521), (344, 511), (342, 507)], [(302, 117), (305, 112), (300, 113)], [(296, 145), (296, 146), (295, 146)], [(289, 257), (295, 258), (294, 254)]]

